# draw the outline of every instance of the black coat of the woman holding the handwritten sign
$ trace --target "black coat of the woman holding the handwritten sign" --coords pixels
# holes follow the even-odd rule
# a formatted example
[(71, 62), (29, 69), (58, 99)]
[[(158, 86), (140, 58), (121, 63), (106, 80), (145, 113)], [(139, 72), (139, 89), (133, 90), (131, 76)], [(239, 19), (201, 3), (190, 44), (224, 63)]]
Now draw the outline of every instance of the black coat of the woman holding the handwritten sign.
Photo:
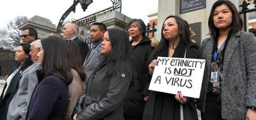
[[(184, 58), (186, 48), (186, 58), (202, 59), (201, 49), (197, 45), (191, 43), (185, 46), (182, 42), (178, 44), (172, 57)], [(158, 56), (168, 57), (168, 45), (156, 53), (153, 59), (157, 59)], [(151, 76), (148, 80), (150, 83)], [(187, 97), (187, 99), (188, 102), (182, 104), (184, 120), (198, 120), (194, 98)], [(150, 91), (142, 120), (180, 120), (180, 105), (175, 95)]]

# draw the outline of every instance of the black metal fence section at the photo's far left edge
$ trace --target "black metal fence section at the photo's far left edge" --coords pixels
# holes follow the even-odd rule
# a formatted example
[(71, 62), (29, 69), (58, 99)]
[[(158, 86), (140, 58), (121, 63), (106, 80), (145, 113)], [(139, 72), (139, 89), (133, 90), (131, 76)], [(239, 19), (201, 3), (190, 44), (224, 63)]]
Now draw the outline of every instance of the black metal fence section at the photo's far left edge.
[(12, 66), (15, 64), (15, 60), (0, 60), (1, 73), (0, 79), (4, 79), (4, 76), (8, 74)]

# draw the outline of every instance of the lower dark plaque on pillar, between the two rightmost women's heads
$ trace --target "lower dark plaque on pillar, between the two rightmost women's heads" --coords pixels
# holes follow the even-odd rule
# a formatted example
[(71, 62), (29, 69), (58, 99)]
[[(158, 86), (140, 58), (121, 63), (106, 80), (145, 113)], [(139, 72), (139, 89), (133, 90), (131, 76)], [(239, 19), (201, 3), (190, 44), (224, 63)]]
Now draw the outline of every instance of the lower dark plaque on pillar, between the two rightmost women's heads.
[(190, 40), (201, 46), (201, 22), (189, 24), (190, 26)]

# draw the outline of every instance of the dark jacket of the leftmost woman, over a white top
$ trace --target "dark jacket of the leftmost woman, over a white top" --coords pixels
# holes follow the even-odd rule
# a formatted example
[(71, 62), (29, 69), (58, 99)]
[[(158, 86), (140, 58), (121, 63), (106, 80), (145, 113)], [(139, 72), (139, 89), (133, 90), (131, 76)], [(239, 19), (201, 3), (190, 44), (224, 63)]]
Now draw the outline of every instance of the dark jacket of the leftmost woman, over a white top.
[(3, 94), (7, 87), (7, 83), (5, 83), (3, 87), (2, 94), (0, 96), (0, 120), (6, 120), (9, 104), (18, 90), (21, 72), (22, 71), (20, 70), (13, 76), (9, 84), (9, 87), (6, 90), (5, 96), (3, 96)]

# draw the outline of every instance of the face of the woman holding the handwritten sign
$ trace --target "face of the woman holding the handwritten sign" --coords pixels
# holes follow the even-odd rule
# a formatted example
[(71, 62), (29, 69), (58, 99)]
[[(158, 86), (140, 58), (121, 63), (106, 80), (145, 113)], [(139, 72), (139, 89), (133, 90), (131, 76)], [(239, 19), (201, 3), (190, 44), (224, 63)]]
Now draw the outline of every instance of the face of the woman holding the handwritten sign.
[(164, 38), (168, 41), (173, 41), (178, 33), (179, 33), (179, 26), (177, 24), (177, 21), (175, 18), (168, 18), (164, 23), (163, 23), (163, 30), (162, 34)]

